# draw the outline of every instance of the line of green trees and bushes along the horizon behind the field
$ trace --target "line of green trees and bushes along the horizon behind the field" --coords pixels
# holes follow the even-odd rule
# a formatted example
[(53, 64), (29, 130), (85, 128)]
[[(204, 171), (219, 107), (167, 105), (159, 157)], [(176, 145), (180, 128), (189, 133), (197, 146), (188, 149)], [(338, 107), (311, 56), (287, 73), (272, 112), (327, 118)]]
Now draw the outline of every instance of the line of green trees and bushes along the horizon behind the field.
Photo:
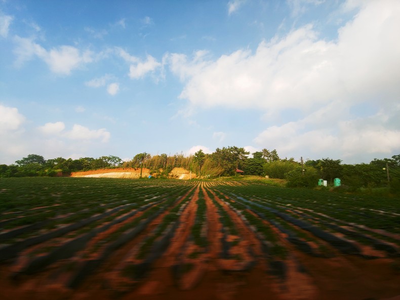
[(234, 176), (239, 169), (245, 175), (286, 179), (289, 186), (296, 187), (315, 186), (318, 179), (332, 183), (335, 178), (340, 178), (343, 185), (375, 188), (387, 186), (389, 182), (395, 185), (400, 179), (400, 155), (374, 159), (370, 163), (342, 164), (342, 160), (331, 158), (304, 162), (295, 161), (293, 157), (280, 158), (275, 149), (263, 149), (252, 154), (253, 157), (249, 157), (250, 152), (235, 146), (217, 148), (211, 154), (198, 150), (188, 156), (183, 153), (150, 155), (143, 152), (129, 161), (113, 155), (46, 160), (41, 155), (29, 154), (15, 164), (0, 164), (0, 177), (68, 176), (71, 172), (116, 167), (145, 167), (151, 173), (163, 176), (174, 167), (182, 167), (203, 178)]

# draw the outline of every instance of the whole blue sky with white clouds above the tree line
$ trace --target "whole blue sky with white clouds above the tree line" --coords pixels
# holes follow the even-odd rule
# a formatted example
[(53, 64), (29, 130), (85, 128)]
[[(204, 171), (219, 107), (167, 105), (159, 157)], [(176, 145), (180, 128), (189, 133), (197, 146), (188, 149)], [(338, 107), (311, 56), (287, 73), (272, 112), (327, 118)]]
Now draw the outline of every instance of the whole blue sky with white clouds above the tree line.
[(0, 0), (0, 164), (400, 154), (398, 0)]

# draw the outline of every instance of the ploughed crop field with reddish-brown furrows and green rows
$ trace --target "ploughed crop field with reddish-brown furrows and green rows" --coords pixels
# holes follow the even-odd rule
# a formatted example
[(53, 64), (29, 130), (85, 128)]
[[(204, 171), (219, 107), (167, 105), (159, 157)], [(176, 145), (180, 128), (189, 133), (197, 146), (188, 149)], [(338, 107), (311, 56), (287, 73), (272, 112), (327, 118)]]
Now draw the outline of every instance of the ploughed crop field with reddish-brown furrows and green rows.
[(400, 295), (399, 254), (395, 198), (0, 179), (2, 299), (387, 299)]

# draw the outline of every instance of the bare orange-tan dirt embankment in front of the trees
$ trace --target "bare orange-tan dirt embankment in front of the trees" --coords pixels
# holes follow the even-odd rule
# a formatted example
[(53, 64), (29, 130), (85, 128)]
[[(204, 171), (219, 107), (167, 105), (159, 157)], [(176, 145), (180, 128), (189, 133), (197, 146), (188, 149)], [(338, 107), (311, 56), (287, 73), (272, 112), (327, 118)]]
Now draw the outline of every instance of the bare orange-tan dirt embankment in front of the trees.
[[(94, 177), (94, 178), (140, 178), (140, 172), (142, 177), (148, 177), (149, 175), (157, 177), (157, 174), (151, 173), (149, 168), (115, 168), (115, 169), (98, 169), (82, 172), (72, 172), (71, 177)], [(160, 173), (163, 172), (160, 169)], [(169, 178), (189, 180), (196, 178), (196, 174), (184, 168), (175, 167), (168, 175)]]

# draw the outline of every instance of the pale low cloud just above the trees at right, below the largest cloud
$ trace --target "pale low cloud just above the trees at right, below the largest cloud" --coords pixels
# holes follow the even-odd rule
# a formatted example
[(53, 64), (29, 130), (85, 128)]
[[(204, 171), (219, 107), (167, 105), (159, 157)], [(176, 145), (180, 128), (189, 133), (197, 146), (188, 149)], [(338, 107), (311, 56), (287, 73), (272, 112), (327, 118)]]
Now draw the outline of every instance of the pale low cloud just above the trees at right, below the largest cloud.
[(254, 142), (262, 148), (274, 145), (281, 156), (315, 157), (324, 153), (348, 163), (359, 162), (363, 156), (368, 159), (400, 151), (400, 108), (366, 117), (338, 110), (343, 114), (331, 116), (332, 110), (322, 108), (298, 121), (269, 126)]

